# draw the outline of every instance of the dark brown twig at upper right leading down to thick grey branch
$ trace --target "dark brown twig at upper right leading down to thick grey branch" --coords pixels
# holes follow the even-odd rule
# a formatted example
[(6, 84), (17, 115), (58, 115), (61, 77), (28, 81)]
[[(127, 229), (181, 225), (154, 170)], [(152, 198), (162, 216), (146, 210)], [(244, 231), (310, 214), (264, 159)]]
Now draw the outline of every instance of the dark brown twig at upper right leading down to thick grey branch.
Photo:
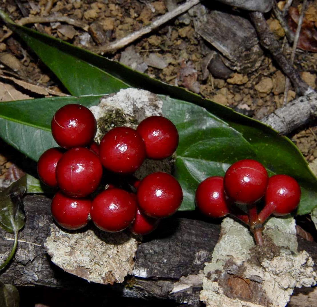
[(250, 12), (249, 16), (254, 23), (262, 46), (272, 54), (275, 61), (279, 64), (281, 70), (293, 83), (296, 92), (299, 95), (307, 95), (312, 93), (314, 90), (301, 79), (297, 69), (295, 69), (293, 65), (290, 64), (288, 59), (282, 53), (281, 46), (275, 39), (274, 34), (268, 29), (268, 25), (263, 14), (260, 12)]

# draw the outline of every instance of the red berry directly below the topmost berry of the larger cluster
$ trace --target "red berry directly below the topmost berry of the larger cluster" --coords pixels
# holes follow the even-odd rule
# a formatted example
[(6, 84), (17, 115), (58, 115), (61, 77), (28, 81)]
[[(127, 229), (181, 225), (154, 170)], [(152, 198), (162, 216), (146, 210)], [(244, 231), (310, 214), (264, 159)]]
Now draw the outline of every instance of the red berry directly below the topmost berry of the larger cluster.
[(56, 180), (68, 196), (85, 197), (98, 187), (102, 166), (98, 156), (88, 148), (69, 149), (58, 161)]

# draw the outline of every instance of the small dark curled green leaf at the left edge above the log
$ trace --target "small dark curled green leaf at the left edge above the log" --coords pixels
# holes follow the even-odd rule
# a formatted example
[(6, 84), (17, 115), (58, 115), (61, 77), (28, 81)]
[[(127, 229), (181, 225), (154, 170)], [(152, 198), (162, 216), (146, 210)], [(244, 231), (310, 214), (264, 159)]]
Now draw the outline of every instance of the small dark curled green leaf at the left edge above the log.
[(18, 232), (24, 226), (22, 196), (26, 191), (26, 176), (0, 192), (0, 226), (7, 232)]

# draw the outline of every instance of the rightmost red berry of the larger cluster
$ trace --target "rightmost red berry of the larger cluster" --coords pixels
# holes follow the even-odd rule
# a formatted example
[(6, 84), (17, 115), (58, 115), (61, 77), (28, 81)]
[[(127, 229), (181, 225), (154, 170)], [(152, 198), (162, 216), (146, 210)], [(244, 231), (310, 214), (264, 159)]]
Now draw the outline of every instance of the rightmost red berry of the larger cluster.
[(146, 176), (138, 187), (137, 196), (140, 208), (152, 218), (166, 218), (174, 214), (183, 200), (178, 181), (163, 172)]

